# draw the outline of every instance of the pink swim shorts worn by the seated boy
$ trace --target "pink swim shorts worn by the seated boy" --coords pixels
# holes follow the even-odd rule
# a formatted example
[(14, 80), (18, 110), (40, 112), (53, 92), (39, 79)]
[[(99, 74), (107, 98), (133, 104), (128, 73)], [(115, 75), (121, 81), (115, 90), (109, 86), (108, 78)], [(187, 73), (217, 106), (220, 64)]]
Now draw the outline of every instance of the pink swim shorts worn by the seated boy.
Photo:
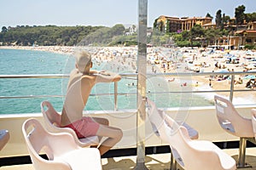
[(65, 127), (72, 128), (77, 133), (78, 138), (95, 136), (100, 124), (93, 121), (91, 117), (83, 117), (81, 120), (73, 122)]

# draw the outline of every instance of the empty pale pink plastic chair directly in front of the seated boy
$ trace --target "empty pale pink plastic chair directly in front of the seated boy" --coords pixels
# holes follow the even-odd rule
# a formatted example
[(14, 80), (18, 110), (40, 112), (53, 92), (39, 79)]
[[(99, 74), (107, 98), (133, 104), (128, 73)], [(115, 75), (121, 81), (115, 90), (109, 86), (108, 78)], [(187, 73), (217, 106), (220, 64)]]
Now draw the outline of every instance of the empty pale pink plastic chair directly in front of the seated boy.
[(49, 133), (36, 119), (26, 120), (22, 133), (35, 170), (102, 169), (99, 150), (81, 148), (70, 133)]

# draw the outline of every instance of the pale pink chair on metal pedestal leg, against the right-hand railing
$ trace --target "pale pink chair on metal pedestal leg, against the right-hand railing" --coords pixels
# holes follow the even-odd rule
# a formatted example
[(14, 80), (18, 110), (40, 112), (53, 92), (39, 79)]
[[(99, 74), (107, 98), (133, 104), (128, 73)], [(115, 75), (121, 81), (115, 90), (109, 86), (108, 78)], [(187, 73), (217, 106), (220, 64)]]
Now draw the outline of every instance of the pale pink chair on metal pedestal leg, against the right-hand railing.
[(219, 125), (227, 132), (240, 138), (237, 167), (251, 167), (245, 162), (247, 140), (254, 144), (252, 120), (241, 116), (229, 99), (215, 95), (214, 102)]

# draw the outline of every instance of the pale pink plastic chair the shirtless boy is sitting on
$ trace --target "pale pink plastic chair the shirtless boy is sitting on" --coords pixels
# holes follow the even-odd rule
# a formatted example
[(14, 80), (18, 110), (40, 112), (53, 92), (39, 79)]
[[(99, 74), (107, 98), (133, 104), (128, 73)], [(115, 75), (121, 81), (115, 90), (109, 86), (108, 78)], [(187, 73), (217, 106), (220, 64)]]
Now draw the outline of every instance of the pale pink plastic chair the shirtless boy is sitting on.
[(86, 137), (79, 139), (77, 134), (69, 127), (60, 127), (61, 114), (55, 111), (55, 108), (49, 103), (49, 101), (43, 101), (41, 103), (41, 111), (44, 116), (44, 122), (49, 132), (61, 133), (67, 132), (73, 135), (73, 139), (81, 147), (87, 147), (91, 145), (98, 145), (99, 138), (97, 136)]

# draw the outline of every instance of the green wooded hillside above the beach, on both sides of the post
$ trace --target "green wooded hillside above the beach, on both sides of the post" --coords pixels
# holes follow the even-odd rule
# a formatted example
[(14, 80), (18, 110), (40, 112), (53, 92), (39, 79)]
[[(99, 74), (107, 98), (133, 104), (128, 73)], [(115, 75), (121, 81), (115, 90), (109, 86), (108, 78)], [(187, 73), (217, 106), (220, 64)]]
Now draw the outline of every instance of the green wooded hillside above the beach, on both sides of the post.
[[(236, 27), (244, 22), (256, 21), (256, 13), (245, 14), (245, 6), (235, 8)], [(207, 13), (207, 17), (213, 19)], [(224, 27), (230, 23), (231, 17), (218, 9), (215, 15), (215, 28), (204, 29), (195, 25), (190, 31), (165, 32), (163, 26), (154, 29), (148, 35), (148, 43), (154, 46), (171, 44), (173, 41), (179, 47), (197, 46), (205, 47), (218, 37), (227, 37), (234, 32), (234, 27)], [(156, 20), (155, 20), (156, 21)], [(2, 27), (0, 32), (0, 45), (18, 46), (116, 46), (137, 45), (137, 32), (125, 34), (129, 29), (118, 24), (113, 27), (105, 26), (16, 26)], [(256, 47), (252, 47), (256, 48)]]

